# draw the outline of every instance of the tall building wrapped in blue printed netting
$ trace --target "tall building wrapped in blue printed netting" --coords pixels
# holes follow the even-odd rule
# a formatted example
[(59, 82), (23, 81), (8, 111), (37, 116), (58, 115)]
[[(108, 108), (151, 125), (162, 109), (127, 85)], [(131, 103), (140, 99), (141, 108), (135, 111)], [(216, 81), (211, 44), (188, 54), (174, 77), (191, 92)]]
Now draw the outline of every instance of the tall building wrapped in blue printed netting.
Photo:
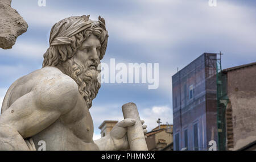
[(218, 142), (216, 60), (216, 53), (203, 53), (172, 76), (174, 150)]

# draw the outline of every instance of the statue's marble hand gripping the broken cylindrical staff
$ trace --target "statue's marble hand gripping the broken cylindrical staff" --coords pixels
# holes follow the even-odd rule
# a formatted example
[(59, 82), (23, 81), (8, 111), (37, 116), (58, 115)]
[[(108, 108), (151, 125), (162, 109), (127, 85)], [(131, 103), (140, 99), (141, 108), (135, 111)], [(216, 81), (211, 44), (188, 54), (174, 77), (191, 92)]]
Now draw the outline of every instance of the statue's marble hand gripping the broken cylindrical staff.
[[(145, 138), (147, 138), (147, 126), (143, 124), (144, 121), (141, 120), (142, 129), (145, 135)], [(110, 131), (110, 137), (113, 139), (114, 145), (118, 147), (118, 149), (129, 149), (129, 143), (127, 140), (127, 127), (133, 126), (135, 124), (135, 119), (124, 119), (113, 127), (113, 129)]]

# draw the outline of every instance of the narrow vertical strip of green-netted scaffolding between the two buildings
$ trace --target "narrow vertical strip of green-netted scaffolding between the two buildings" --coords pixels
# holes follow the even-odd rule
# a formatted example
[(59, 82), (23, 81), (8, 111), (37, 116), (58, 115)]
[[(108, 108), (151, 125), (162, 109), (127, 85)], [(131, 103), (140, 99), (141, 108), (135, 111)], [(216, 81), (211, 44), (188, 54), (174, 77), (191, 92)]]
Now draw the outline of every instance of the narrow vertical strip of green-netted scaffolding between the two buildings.
[(220, 59), (216, 61), (217, 78), (217, 128), (218, 128), (218, 150), (226, 150), (226, 106), (229, 102), (227, 95), (227, 76), (222, 73)]

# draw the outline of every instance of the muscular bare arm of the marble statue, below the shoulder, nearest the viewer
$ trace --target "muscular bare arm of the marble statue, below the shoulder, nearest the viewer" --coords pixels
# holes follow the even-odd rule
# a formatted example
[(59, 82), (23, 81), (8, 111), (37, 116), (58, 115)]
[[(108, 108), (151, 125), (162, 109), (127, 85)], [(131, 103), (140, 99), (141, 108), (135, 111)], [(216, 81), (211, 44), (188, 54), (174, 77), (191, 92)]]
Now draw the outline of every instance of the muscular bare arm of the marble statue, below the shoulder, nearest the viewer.
[(24, 139), (68, 113), (76, 101), (77, 86), (54, 81), (23, 95), (0, 115), (0, 150), (29, 150)]

